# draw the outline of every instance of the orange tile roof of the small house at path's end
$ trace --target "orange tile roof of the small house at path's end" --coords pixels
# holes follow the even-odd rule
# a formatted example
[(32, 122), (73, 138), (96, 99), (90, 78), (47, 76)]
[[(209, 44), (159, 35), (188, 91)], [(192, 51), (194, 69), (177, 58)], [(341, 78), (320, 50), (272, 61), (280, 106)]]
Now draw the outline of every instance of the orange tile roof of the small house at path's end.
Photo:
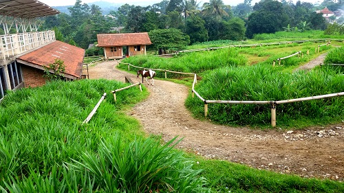
[(99, 47), (151, 45), (147, 32), (131, 34), (97, 34)]

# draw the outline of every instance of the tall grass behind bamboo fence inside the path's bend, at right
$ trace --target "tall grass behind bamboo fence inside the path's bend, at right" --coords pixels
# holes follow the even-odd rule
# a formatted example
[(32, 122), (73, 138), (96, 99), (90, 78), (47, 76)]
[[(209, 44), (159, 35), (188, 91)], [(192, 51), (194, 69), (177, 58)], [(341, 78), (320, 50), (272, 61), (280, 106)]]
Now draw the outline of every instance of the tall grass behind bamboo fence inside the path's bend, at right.
[[(319, 67), (309, 72), (282, 73), (268, 65), (224, 67), (203, 73), (195, 90), (206, 100), (277, 101), (344, 91), (344, 77), (336, 67)], [(327, 98), (277, 106), (279, 126), (330, 124), (344, 118), (344, 98)], [(198, 117), (203, 102), (189, 97), (186, 106)], [(209, 104), (208, 118), (219, 124), (266, 125), (270, 106), (257, 104)]]

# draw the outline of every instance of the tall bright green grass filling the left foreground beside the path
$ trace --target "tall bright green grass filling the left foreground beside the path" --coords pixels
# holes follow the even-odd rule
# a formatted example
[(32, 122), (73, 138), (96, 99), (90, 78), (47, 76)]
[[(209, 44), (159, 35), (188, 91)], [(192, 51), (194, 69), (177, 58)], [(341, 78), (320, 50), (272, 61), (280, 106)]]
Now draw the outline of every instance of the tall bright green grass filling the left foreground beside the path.
[[(122, 112), (147, 97), (146, 89), (121, 91), (117, 103), (109, 95), (89, 124), (83, 124), (104, 92), (125, 86), (110, 80), (61, 81), (6, 95), (0, 104), (0, 190), (206, 191), (189, 159), (168, 144), (142, 139), (138, 121)], [(102, 168), (102, 177), (92, 172), (95, 168)]]

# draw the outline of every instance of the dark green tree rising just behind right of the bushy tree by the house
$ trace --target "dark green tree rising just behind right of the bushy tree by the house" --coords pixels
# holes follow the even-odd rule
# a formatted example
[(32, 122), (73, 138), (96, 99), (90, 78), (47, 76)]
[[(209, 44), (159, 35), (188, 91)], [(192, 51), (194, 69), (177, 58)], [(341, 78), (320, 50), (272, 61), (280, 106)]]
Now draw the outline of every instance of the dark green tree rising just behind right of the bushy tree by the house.
[(186, 19), (186, 34), (189, 34), (191, 43), (208, 40), (208, 32), (204, 24), (205, 21), (200, 16), (191, 15)]

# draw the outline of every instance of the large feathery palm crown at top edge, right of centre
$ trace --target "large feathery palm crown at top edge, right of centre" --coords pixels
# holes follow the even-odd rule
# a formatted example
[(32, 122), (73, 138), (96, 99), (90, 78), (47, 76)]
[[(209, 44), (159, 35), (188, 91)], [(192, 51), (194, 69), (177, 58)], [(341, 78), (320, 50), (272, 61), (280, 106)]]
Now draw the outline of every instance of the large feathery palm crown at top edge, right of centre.
[(222, 0), (210, 0), (209, 3), (203, 4), (203, 14), (206, 15), (216, 15), (216, 16), (228, 16), (225, 11), (229, 5), (224, 5)]

